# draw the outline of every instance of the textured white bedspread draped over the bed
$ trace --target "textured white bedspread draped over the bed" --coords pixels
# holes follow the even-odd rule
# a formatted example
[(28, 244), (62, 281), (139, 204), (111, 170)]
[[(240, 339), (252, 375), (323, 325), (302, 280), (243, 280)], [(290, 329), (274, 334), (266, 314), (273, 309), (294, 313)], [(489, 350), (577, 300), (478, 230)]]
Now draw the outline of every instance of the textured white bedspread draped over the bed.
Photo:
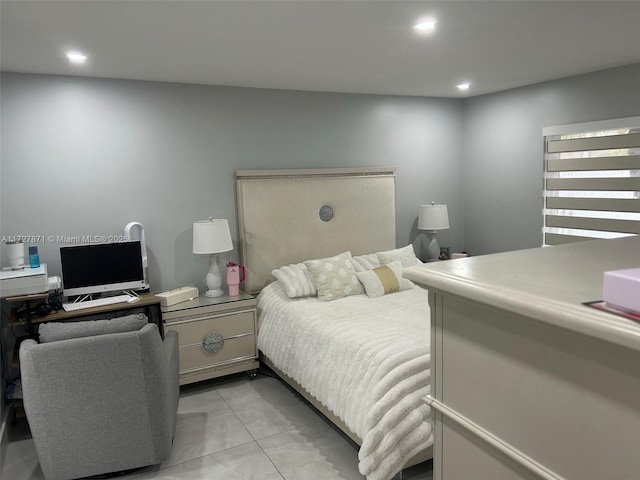
[(427, 292), (376, 299), (258, 297), (258, 348), (362, 439), (360, 473), (388, 480), (433, 442)]

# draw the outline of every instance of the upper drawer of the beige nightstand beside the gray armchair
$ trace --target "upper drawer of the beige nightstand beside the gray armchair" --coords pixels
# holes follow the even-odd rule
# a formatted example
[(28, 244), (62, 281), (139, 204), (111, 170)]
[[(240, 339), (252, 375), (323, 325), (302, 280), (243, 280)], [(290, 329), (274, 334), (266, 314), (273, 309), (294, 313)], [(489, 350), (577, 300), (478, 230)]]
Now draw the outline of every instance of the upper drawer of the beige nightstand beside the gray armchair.
[(219, 333), (223, 338), (254, 333), (254, 312), (239, 312), (212, 316), (184, 323), (166, 324), (165, 330), (178, 332), (180, 346), (202, 345), (204, 337), (210, 333)]

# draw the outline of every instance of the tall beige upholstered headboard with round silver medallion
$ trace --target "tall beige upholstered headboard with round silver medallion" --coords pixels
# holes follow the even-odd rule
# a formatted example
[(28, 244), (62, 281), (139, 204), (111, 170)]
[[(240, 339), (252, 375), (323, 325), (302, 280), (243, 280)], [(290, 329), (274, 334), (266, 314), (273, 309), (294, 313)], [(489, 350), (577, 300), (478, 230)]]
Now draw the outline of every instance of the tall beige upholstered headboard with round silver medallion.
[(395, 168), (238, 170), (236, 188), (247, 292), (282, 265), (395, 248)]

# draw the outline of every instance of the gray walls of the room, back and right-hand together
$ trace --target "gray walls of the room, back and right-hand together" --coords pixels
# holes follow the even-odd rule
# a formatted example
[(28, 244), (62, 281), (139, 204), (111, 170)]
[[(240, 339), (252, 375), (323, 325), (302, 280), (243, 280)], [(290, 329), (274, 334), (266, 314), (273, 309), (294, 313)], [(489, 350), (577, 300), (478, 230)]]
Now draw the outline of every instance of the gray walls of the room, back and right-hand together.
[[(202, 289), (191, 226), (228, 218), (237, 239), (242, 168), (393, 165), (398, 246), (431, 200), (449, 206), (438, 238), (452, 251), (539, 246), (542, 128), (640, 115), (640, 64), (464, 101), (3, 73), (0, 107), (2, 235), (114, 235), (137, 220), (151, 288)], [(60, 245), (38, 244), (51, 274)]]

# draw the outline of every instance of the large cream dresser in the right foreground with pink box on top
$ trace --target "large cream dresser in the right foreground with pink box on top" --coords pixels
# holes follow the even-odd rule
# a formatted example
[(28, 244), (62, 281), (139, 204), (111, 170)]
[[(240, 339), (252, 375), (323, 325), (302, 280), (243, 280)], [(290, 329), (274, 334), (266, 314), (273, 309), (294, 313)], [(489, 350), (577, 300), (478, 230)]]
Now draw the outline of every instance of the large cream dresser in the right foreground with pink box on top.
[(435, 480), (640, 479), (640, 323), (582, 305), (638, 266), (636, 236), (405, 270), (429, 290)]

